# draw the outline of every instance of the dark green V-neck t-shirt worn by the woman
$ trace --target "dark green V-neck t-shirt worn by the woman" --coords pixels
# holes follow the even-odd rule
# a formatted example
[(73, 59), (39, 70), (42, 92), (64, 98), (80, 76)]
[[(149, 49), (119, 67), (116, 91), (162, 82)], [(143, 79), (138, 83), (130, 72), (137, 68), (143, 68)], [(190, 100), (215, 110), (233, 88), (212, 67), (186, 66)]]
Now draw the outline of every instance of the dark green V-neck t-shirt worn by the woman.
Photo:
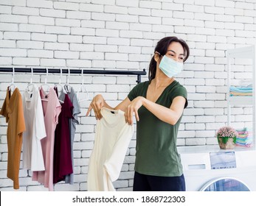
[[(128, 99), (132, 101), (137, 96), (146, 98), (148, 85), (150, 81), (136, 85), (128, 94)], [(156, 104), (170, 108), (176, 96), (184, 96), (186, 99), (184, 107), (187, 107), (187, 90), (174, 80), (156, 100)], [(181, 176), (183, 171), (176, 140), (182, 116), (175, 125), (171, 125), (161, 121), (143, 106), (139, 108), (138, 114), (135, 171), (164, 177)]]

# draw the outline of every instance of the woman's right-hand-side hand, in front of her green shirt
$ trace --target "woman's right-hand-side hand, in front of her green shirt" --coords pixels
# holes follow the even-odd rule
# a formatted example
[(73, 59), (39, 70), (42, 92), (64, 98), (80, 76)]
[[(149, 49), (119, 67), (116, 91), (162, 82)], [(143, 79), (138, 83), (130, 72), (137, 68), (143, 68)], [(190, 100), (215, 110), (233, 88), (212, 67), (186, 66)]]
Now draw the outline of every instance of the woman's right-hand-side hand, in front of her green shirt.
[(135, 114), (136, 121), (139, 121), (138, 110), (142, 106), (144, 97), (138, 96), (125, 109), (125, 121), (132, 125), (133, 124), (133, 115)]

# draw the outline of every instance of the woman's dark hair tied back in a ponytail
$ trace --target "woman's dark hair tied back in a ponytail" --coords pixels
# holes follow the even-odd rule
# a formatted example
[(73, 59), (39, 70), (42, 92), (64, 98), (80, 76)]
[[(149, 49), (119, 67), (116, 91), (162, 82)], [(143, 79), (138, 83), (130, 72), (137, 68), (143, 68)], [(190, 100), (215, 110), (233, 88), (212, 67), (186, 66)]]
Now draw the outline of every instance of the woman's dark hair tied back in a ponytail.
[[(168, 46), (173, 41), (179, 42), (181, 46), (184, 49), (184, 60), (185, 62), (187, 58), (190, 56), (190, 49), (187, 46), (187, 43), (179, 38), (176, 37), (166, 37), (159, 40), (159, 42), (156, 44), (156, 48), (154, 52), (159, 52), (162, 56), (164, 56), (167, 52)], [(148, 79), (152, 80), (156, 77), (156, 60), (154, 59), (154, 56), (151, 59), (151, 63), (149, 64), (149, 72), (148, 72)]]

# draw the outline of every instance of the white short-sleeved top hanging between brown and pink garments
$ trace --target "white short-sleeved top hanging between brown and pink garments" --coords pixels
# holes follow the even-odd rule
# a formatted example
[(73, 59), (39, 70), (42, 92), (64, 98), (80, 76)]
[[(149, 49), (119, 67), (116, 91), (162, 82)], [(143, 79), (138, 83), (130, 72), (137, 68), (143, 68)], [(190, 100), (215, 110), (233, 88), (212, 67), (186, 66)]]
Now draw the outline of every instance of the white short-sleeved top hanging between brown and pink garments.
[(36, 85), (26, 88), (23, 94), (23, 109), (26, 131), (23, 134), (23, 168), (44, 171), (41, 139), (46, 137), (41, 97)]

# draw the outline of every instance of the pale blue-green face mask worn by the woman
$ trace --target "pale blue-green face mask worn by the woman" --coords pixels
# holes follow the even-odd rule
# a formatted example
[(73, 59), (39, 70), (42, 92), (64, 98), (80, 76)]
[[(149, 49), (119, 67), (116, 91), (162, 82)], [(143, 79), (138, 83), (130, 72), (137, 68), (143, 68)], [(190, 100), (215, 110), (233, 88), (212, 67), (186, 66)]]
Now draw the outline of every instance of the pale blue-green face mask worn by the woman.
[(162, 70), (162, 72), (165, 73), (167, 77), (171, 78), (181, 73), (183, 63), (179, 63), (176, 60), (163, 56), (159, 64), (159, 68)]

